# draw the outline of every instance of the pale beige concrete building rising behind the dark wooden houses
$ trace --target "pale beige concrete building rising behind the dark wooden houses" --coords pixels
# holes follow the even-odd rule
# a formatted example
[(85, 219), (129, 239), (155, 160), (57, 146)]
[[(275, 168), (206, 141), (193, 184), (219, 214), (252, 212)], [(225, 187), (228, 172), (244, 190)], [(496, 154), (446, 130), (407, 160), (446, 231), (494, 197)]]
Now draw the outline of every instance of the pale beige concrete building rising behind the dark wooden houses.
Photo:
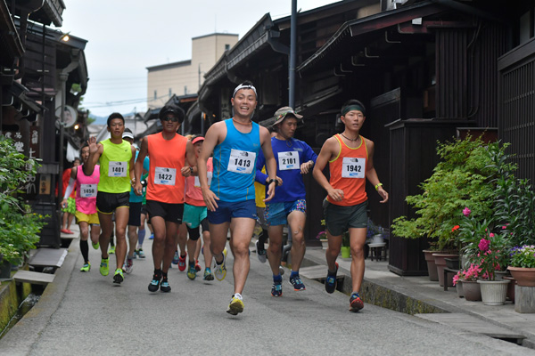
[(192, 59), (147, 67), (147, 108), (161, 108), (173, 94), (197, 93), (204, 74), (238, 42), (238, 35), (214, 33), (192, 38)]

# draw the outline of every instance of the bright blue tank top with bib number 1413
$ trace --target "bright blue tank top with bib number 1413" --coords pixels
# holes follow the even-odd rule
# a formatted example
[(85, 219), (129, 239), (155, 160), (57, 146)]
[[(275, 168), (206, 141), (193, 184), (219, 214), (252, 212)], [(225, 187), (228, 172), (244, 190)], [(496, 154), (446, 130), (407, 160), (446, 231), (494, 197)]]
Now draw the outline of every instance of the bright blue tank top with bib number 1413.
[(210, 190), (223, 201), (254, 199), (254, 176), (260, 151), (259, 125), (253, 122), (249, 134), (236, 130), (232, 118), (227, 118), (225, 125), (225, 140), (214, 149)]

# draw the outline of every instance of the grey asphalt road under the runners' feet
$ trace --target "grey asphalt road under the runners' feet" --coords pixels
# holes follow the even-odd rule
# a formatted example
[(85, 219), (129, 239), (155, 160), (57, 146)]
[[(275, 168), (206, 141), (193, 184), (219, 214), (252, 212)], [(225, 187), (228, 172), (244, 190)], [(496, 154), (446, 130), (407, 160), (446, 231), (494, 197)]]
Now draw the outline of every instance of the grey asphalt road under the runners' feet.
[[(172, 291), (150, 293), (151, 242), (144, 244), (147, 258), (134, 261), (134, 271), (120, 286), (113, 285), (111, 275), (100, 275), (100, 254), (91, 247), (93, 269), (80, 272), (82, 257), (78, 247), (71, 247), (57, 273), (61, 280), (47, 287), (27, 318), (0, 340), (0, 354), (533, 354), (370, 304), (349, 312), (348, 295), (328, 295), (322, 284), (308, 279), (307, 290), (295, 292), (288, 272), (283, 297), (274, 298), (268, 263), (259, 263), (254, 253), (243, 293), (245, 310), (238, 316), (226, 313), (233, 293), (230, 254), (223, 281), (205, 282), (202, 272), (192, 281), (174, 266), (169, 271)], [(111, 271), (114, 267), (113, 261)]]

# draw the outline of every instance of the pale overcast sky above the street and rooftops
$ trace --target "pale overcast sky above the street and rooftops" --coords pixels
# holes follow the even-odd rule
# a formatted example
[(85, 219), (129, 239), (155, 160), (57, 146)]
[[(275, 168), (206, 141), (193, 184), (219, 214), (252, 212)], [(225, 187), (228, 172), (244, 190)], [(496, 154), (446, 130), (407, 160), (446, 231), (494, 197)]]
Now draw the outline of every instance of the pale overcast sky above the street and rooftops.
[[(186, 61), (192, 37), (242, 36), (267, 12), (290, 15), (290, 0), (65, 0), (62, 32), (89, 41), (83, 106), (96, 116), (146, 110), (146, 67)], [(333, 0), (298, 0), (301, 11)]]

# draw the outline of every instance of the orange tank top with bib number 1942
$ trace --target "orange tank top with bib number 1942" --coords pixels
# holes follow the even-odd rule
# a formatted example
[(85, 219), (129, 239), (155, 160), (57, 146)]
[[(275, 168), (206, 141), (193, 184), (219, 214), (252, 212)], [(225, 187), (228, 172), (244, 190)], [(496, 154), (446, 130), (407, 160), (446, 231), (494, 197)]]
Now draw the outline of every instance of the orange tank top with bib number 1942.
[(366, 196), (366, 167), (368, 155), (364, 137), (360, 136), (360, 145), (354, 149), (348, 147), (339, 134), (334, 138), (340, 145), (338, 156), (329, 161), (330, 183), (334, 189), (343, 190), (342, 201), (327, 200), (337, 206), (356, 206), (364, 203)]

